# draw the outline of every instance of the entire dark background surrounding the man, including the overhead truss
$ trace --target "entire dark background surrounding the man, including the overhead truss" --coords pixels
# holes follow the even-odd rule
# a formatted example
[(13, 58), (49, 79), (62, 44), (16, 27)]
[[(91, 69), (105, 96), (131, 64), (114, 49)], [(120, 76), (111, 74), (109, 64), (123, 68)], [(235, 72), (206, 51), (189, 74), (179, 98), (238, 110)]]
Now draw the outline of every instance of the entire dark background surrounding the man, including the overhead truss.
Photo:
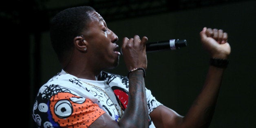
[[(20, 77), (29, 77), (23, 88), (29, 99), (24, 96), (21, 100), (28, 104), (25, 120), (30, 128), (35, 128), (31, 112), (38, 89), (61, 70), (51, 47), (49, 22), (62, 9), (83, 5), (94, 7), (103, 16), (108, 28), (118, 35), (120, 46), (124, 37), (134, 35), (147, 36), (148, 42), (188, 41), (187, 47), (175, 51), (147, 53), (146, 87), (181, 115), (199, 94), (207, 73), (209, 57), (201, 46), (199, 32), (204, 26), (223, 29), (229, 35), (232, 52), (210, 128), (256, 127), (255, 0), (7, 1), (1, 4), (1, 36), (12, 44), (11, 51), (20, 51), (13, 57), (24, 64), (18, 67)], [(11, 59), (2, 57), (3, 61)], [(119, 66), (107, 71), (127, 75), (122, 56)]]

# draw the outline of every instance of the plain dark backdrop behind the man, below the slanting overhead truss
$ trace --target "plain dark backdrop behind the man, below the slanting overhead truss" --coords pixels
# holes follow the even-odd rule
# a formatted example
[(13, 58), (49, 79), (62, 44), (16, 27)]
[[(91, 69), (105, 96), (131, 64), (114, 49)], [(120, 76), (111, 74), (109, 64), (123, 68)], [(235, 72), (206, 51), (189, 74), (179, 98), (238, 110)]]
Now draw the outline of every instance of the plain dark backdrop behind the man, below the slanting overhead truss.
[[(234, 2), (119, 20), (106, 20), (108, 28), (122, 38), (147, 36), (149, 41), (186, 39), (188, 46), (175, 51), (148, 53), (146, 87), (164, 105), (185, 115), (200, 92), (208, 68), (199, 32), (204, 26), (223, 29), (232, 48), (225, 71), (216, 112), (210, 128), (255, 128), (256, 1)], [(32, 15), (30, 15), (32, 16)], [(31, 23), (34, 24), (34, 23)], [(48, 21), (38, 26), (48, 27)], [(22, 27), (22, 26), (19, 26)], [(23, 28), (23, 27), (22, 27)], [(49, 31), (35, 31), (29, 43), (29, 126), (33, 128), (32, 102), (38, 88), (61, 70), (51, 48)], [(127, 75), (122, 56), (112, 73)]]

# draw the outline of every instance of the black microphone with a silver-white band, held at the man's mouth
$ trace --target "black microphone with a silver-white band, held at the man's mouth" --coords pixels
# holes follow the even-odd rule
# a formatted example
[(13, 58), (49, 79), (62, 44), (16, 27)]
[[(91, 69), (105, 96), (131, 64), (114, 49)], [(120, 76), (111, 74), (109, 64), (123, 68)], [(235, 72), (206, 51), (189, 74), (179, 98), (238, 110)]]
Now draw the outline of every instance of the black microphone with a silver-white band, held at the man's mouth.
[(146, 43), (146, 52), (166, 51), (180, 49), (187, 46), (187, 40), (171, 39), (159, 42)]

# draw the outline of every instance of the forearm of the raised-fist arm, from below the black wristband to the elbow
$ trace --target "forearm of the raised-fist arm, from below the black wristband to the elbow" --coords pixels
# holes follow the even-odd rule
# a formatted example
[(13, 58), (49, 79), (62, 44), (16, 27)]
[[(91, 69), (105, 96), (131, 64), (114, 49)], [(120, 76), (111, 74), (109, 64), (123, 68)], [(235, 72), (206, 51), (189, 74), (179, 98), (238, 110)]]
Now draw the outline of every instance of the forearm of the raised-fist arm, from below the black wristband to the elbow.
[(209, 67), (201, 93), (184, 117), (185, 125), (193, 126), (194, 128), (207, 128), (210, 125), (224, 70), (224, 68)]

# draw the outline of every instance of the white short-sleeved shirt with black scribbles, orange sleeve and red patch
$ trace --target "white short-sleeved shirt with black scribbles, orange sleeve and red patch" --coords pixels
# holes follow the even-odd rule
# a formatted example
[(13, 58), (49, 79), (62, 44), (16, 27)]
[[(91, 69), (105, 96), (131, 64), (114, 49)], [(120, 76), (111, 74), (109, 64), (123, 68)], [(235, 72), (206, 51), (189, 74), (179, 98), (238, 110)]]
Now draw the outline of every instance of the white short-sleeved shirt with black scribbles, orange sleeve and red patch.
[[(32, 116), (38, 128), (87, 128), (104, 113), (119, 121), (128, 104), (128, 78), (102, 71), (100, 79), (79, 79), (64, 70), (57, 73), (35, 98)], [(147, 88), (146, 98), (148, 114), (162, 105)], [(155, 127), (150, 117), (149, 127)]]

